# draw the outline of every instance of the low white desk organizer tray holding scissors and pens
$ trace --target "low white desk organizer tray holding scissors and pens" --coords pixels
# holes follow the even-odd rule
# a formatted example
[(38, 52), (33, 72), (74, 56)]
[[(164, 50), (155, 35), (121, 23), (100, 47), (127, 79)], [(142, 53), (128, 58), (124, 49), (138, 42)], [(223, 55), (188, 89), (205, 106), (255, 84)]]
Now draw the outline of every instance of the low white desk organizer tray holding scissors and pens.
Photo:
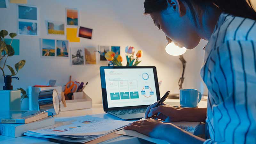
[(92, 99), (84, 92), (74, 92), (74, 100), (66, 100), (67, 107), (60, 103), (60, 111), (92, 108)]

